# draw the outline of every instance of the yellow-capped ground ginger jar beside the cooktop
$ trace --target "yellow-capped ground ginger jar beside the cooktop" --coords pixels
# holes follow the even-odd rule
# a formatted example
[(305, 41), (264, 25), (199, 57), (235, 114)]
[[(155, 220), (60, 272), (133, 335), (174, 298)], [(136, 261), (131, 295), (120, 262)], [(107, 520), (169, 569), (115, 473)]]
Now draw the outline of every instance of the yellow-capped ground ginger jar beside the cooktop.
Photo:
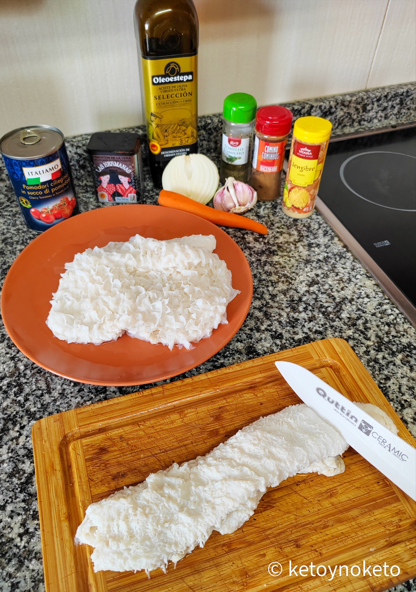
[(282, 210), (292, 218), (307, 218), (315, 207), (332, 124), (322, 117), (295, 121), (283, 191)]

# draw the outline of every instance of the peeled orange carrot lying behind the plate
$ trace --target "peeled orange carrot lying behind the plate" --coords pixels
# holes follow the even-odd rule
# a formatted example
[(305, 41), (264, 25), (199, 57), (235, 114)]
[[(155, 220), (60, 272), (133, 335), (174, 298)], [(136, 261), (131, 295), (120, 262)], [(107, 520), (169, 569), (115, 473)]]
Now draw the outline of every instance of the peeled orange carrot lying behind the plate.
[(174, 191), (166, 191), (166, 189), (162, 189), (159, 194), (159, 200), (157, 201), (159, 201), (160, 205), (164, 205), (166, 208), (189, 212), (189, 214), (195, 214), (214, 224), (220, 224), (220, 226), (244, 228), (260, 234), (267, 234), (267, 228), (264, 224), (260, 224), (259, 222), (255, 222), (250, 218), (245, 218), (238, 214), (214, 210), (214, 208), (210, 208), (208, 205), (202, 205), (198, 201), (191, 200), (191, 198), (175, 193)]

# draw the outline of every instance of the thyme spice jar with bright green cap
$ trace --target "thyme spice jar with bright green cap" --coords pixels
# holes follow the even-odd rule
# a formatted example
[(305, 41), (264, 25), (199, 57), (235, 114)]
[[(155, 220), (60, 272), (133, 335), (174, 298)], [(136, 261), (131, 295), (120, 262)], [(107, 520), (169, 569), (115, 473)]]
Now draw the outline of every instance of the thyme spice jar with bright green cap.
[(224, 100), (220, 181), (228, 177), (247, 183), (251, 169), (251, 145), (257, 102), (246, 92), (234, 92)]

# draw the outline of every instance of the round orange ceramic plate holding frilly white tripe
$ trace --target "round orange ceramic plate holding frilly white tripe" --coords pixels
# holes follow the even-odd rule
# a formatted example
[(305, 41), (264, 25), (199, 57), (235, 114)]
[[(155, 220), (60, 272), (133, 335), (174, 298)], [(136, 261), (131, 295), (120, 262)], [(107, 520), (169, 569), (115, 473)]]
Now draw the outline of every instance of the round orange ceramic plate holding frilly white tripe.
[[(52, 292), (65, 263), (88, 247), (125, 241), (134, 234), (165, 240), (189, 234), (214, 234), (215, 253), (233, 274), (240, 290), (227, 307), (228, 324), (195, 343), (195, 349), (151, 345), (124, 334), (102, 345), (66, 343), (46, 326)], [(211, 358), (237, 333), (251, 304), (253, 280), (240, 247), (215, 224), (194, 214), (159, 205), (117, 205), (69, 218), (38, 236), (21, 252), (4, 281), (1, 312), (15, 345), (42, 368), (77, 382), (136, 385), (182, 374)]]

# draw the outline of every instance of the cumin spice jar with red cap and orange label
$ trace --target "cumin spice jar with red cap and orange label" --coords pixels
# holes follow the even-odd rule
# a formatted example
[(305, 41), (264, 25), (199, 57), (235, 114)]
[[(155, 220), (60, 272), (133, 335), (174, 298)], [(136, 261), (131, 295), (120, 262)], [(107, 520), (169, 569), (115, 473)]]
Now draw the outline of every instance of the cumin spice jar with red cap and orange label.
[(253, 166), (249, 184), (257, 191), (257, 200), (280, 197), (286, 142), (292, 127), (292, 112), (285, 107), (262, 107), (256, 115)]

